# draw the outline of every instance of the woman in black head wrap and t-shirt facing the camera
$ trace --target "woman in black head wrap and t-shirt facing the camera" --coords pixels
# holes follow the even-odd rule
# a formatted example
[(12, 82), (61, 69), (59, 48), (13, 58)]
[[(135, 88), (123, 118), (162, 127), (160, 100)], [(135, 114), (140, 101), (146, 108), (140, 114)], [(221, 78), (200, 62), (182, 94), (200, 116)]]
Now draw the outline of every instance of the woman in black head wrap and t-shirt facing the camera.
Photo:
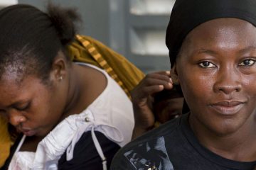
[(122, 148), (112, 169), (254, 169), (255, 26), (256, 1), (177, 0), (166, 45), (190, 112)]

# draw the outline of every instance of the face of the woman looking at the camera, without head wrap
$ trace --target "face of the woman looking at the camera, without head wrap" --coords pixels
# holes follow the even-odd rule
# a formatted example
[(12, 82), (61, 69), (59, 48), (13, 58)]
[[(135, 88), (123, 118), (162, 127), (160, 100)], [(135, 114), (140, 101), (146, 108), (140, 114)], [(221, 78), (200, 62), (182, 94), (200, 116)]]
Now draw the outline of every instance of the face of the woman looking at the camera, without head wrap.
[(255, 62), (256, 28), (252, 24), (218, 18), (192, 30), (175, 66), (191, 123), (215, 135), (230, 135), (255, 125)]

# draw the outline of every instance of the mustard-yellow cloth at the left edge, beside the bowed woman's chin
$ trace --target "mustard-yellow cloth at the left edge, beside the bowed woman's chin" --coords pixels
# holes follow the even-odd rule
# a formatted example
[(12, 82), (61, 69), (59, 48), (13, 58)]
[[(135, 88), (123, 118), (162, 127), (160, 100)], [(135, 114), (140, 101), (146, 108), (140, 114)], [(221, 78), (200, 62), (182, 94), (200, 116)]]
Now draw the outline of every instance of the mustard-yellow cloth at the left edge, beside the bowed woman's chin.
[(0, 116), (0, 167), (4, 165), (6, 158), (9, 156), (11, 145), (7, 121)]

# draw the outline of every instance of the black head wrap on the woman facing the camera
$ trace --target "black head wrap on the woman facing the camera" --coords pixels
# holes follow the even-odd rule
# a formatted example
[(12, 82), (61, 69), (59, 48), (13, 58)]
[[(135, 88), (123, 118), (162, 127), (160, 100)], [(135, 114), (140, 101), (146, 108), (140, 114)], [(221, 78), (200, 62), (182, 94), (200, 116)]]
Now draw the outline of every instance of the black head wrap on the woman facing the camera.
[(186, 35), (215, 18), (240, 18), (256, 26), (255, 0), (176, 0), (166, 30), (171, 66)]

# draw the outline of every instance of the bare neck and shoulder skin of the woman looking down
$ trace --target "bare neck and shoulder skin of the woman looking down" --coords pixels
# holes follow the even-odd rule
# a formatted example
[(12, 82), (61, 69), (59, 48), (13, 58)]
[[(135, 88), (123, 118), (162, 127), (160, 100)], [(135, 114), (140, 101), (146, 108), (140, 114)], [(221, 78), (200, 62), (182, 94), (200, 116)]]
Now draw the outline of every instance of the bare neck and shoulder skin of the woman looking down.
[(70, 72), (68, 101), (65, 117), (85, 110), (105, 90), (107, 79), (102, 72), (73, 63)]

